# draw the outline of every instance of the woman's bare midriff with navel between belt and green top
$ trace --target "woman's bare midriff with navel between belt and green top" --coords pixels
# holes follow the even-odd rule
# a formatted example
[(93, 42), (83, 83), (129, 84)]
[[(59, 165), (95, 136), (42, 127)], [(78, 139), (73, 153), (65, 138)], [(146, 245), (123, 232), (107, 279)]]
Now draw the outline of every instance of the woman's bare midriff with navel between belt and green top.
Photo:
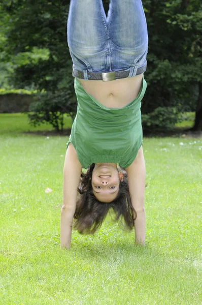
[(80, 83), (88, 94), (108, 108), (122, 108), (137, 98), (143, 74), (112, 81), (84, 80)]

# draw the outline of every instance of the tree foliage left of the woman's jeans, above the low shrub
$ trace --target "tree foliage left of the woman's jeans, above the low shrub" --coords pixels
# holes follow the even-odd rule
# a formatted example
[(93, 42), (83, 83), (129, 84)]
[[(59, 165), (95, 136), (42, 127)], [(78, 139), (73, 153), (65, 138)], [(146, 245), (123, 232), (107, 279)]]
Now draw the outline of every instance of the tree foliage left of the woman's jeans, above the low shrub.
[(68, 7), (59, 0), (15, 0), (1, 5), (0, 16), (8, 26), (0, 51), (11, 70), (10, 85), (50, 92), (68, 87), (72, 78), (66, 43)]

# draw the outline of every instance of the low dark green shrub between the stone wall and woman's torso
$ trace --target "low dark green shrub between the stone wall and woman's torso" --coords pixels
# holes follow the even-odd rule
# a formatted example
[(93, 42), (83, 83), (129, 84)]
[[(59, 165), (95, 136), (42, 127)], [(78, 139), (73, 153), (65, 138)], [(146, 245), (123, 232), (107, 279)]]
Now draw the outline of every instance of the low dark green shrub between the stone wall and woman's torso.
[(28, 114), (30, 124), (39, 126), (49, 123), (57, 131), (63, 131), (64, 114), (69, 114), (74, 120), (76, 115), (76, 101), (70, 90), (57, 90), (57, 92), (39, 93), (35, 101), (30, 104)]

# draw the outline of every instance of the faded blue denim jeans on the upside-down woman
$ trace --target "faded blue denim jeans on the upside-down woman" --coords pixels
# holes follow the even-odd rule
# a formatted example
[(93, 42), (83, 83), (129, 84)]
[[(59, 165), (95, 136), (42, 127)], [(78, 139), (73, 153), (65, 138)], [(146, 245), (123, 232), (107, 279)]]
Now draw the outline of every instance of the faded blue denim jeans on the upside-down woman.
[(102, 0), (71, 0), (68, 46), (73, 69), (84, 72), (146, 70), (147, 23), (141, 0), (110, 0), (106, 16)]

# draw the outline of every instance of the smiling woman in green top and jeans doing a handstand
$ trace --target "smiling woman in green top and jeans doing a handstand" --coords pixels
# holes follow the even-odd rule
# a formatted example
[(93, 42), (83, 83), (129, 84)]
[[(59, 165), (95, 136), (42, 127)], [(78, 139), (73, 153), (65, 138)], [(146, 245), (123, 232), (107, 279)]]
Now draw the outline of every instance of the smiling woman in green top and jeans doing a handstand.
[(64, 161), (61, 247), (71, 245), (74, 219), (80, 233), (94, 233), (111, 207), (144, 245), (148, 35), (141, 0), (110, 0), (107, 16), (102, 0), (72, 0), (68, 45), (78, 108)]

